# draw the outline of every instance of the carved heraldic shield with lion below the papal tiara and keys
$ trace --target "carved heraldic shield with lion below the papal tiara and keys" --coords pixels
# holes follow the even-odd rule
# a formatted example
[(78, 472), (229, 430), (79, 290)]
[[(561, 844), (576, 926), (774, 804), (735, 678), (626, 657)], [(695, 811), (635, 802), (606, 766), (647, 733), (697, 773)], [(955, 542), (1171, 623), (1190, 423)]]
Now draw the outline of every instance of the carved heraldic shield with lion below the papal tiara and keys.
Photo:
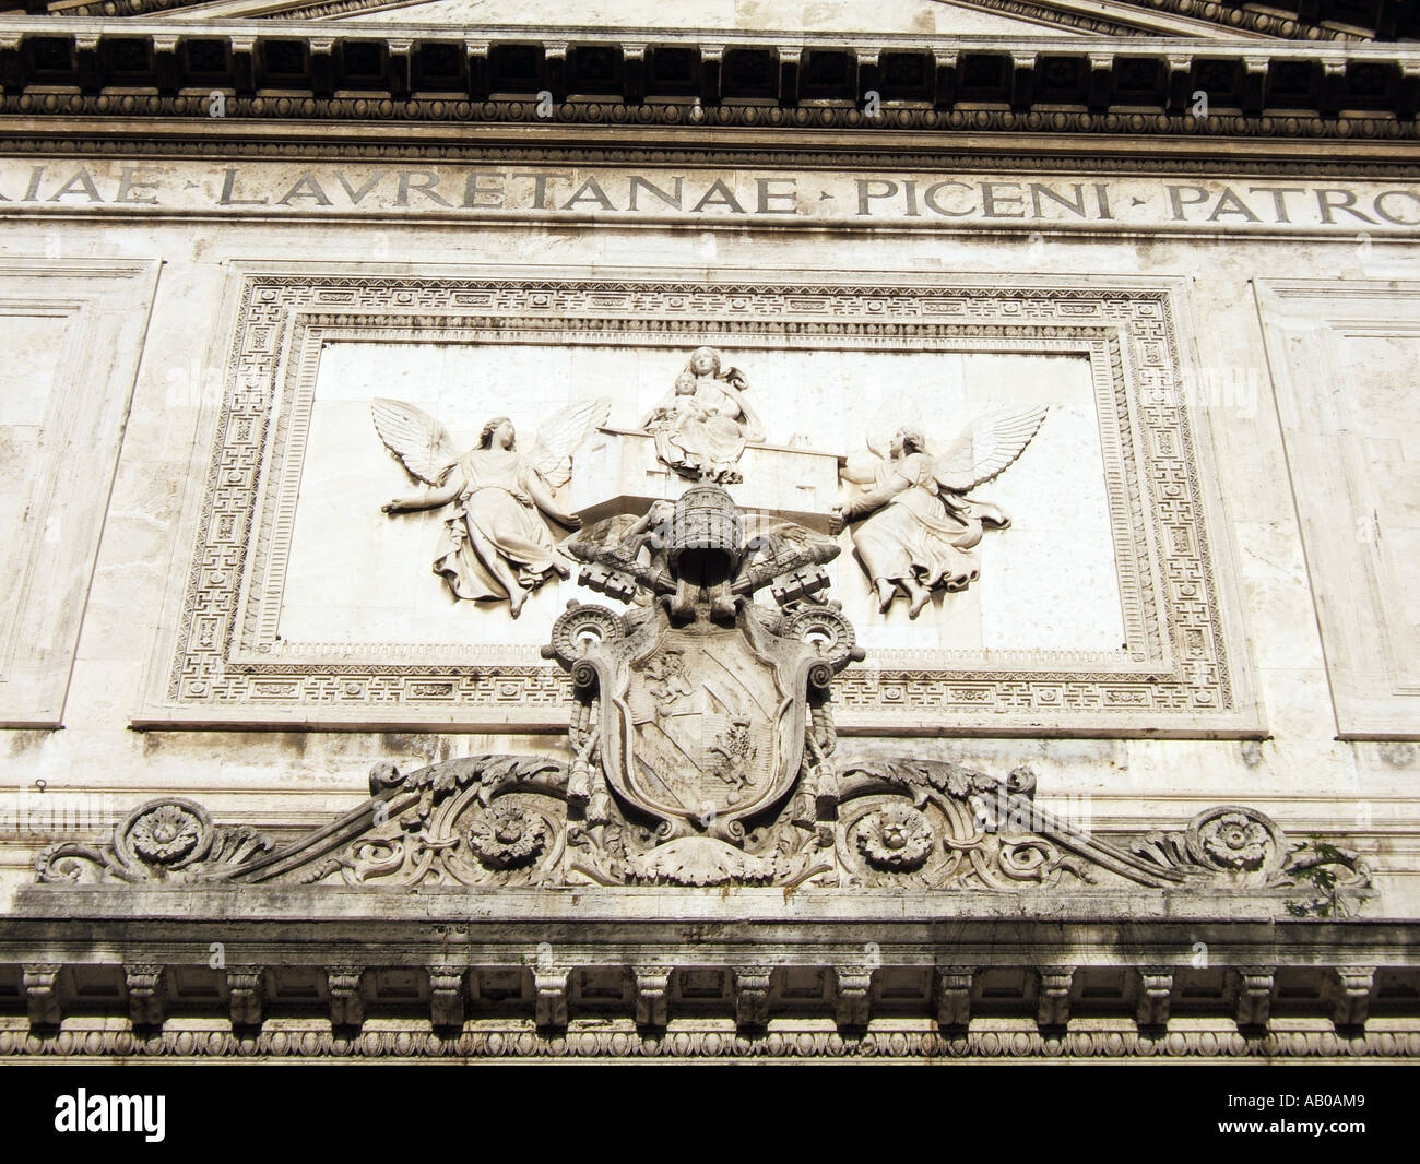
[(794, 785), (822, 656), (784, 633), (792, 619), (743, 603), (731, 625), (677, 626), (659, 605), (626, 617), (584, 606), (559, 622), (595, 670), (602, 768), (628, 803), (674, 833), (728, 839)]

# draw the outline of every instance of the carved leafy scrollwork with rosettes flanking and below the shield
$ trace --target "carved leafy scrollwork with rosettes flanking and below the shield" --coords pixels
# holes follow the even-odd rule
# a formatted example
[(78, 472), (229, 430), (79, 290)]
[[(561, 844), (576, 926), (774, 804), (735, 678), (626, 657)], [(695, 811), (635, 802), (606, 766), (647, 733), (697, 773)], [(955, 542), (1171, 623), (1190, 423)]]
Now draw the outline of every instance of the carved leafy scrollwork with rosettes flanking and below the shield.
[[(1257, 809), (1220, 805), (1184, 828), (1108, 838), (1035, 802), (1035, 778), (947, 761), (846, 759), (832, 819), (811, 789), (738, 846), (655, 830), (615, 802), (592, 812), (568, 768), (542, 757), (480, 755), (403, 774), (371, 772), (369, 799), (275, 846), (214, 825), (186, 799), (132, 811), (106, 845), (64, 842), (38, 880), (65, 883), (328, 886), (760, 886), (937, 889), (1044, 901), (1154, 890), (1260, 903), (1277, 916), (1345, 917), (1372, 896), (1370, 870), (1319, 838), (1296, 840)], [(960, 899), (950, 899), (958, 901)], [(944, 903), (946, 907), (946, 903)]]

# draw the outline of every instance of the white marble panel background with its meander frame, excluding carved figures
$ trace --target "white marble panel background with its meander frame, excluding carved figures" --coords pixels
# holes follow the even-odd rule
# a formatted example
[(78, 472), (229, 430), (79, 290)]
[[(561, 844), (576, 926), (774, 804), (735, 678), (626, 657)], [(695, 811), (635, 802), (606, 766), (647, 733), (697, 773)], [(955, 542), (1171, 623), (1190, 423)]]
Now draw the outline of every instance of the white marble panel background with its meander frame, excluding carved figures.
[(843, 730), (1255, 730), (1207, 436), (1160, 390), (1187, 359), (1174, 281), (534, 281), (256, 264), (239, 278), (187, 598), (145, 723), (561, 725), (567, 693), (537, 647), (568, 599), (595, 595), (551, 579), (517, 619), (506, 602), (454, 599), (430, 569), (449, 511), (381, 511), (410, 480), (371, 405), (406, 402), (462, 447), (507, 416), (527, 447), (555, 410), (606, 399), (565, 491), (591, 512), (604, 471), (608, 495), (674, 495), (653, 457), (596, 459), (649, 444), (630, 434), (692, 349), (713, 345), (743, 370), (765, 430), (731, 493), (821, 528), (841, 504), (835, 466), (865, 454), (869, 433), (906, 424), (947, 444), (993, 410), (1048, 409), (974, 494), (1011, 525), (985, 534), (970, 586), (937, 591), (917, 617), (906, 602), (883, 613), (842, 534), (832, 592), (869, 650), (841, 680)]

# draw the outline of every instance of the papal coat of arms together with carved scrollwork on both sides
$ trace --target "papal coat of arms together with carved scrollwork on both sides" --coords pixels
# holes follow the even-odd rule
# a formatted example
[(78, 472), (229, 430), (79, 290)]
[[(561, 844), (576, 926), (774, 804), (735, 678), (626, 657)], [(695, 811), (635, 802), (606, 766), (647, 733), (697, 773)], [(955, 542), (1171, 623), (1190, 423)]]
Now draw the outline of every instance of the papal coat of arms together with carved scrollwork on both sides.
[(652, 507), (632, 532), (586, 531), (568, 552), (584, 585), (628, 609), (571, 603), (551, 629), (544, 653), (575, 694), (564, 759), (381, 762), (368, 801), (285, 847), (156, 801), (109, 845), (44, 850), (40, 880), (1223, 889), (1298, 917), (1355, 913), (1370, 896), (1359, 856), (1292, 840), (1251, 808), (1105, 839), (1041, 808), (1025, 767), (843, 758), (832, 684), (863, 650), (822, 600), (838, 544), (757, 528), (719, 485)]

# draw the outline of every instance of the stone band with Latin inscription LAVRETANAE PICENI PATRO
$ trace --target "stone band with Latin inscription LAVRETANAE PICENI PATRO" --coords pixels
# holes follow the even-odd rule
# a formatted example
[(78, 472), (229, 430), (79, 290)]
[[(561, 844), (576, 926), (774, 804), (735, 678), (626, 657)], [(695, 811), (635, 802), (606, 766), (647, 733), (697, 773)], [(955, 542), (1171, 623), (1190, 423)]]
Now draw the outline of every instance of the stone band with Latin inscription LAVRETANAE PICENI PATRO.
[(1420, 230), (1420, 186), (1402, 183), (0, 159), (0, 214), (97, 206), (223, 216)]

